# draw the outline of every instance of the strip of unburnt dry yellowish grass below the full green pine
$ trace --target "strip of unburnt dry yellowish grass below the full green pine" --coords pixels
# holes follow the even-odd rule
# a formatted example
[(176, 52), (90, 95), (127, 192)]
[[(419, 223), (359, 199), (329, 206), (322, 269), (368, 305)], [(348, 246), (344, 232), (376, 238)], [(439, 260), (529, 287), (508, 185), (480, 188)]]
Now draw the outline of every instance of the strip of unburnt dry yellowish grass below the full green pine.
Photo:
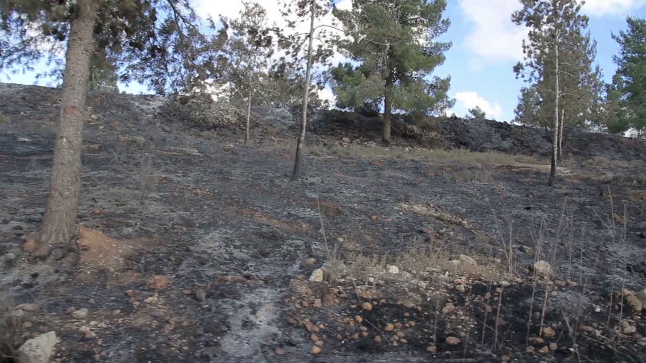
[[(261, 147), (262, 151), (293, 152), (295, 141), (282, 141)], [(428, 160), (459, 165), (515, 165), (516, 163), (542, 165), (545, 161), (531, 156), (508, 155), (500, 152), (471, 152), (469, 150), (410, 149), (404, 147), (368, 147), (362, 145), (306, 146), (306, 152), (313, 156), (341, 156), (353, 159), (393, 158), (400, 160)], [(484, 176), (482, 176), (484, 177)], [(472, 178), (466, 177), (466, 180)], [(475, 178), (477, 180), (481, 179)]]

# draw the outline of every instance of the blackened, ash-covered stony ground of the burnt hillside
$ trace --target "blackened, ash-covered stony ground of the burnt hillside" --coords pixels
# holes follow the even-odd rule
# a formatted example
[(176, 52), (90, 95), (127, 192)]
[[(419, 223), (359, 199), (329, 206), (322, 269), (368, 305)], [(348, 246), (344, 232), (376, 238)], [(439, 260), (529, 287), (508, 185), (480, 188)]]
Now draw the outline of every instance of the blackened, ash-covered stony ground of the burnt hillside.
[[(240, 129), (161, 123), (160, 98), (92, 94), (78, 249), (38, 260), (59, 93), (0, 93), (14, 348), (53, 330), (55, 362), (646, 360), (643, 141), (568, 138), (550, 188), (547, 161), (330, 131), (289, 182), (285, 110), (256, 110), (244, 145)], [(475, 134), (460, 122), (443, 127), (453, 147)], [(499, 128), (544, 156), (542, 130)]]

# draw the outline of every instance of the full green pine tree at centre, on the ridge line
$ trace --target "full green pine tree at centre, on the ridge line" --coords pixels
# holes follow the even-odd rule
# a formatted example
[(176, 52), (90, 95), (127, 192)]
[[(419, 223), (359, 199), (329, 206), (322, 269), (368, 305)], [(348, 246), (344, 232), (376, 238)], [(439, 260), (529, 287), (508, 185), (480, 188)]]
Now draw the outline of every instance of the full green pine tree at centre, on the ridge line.
[(382, 140), (391, 143), (393, 110), (441, 114), (455, 103), (447, 96), (450, 77), (425, 78), (444, 63), (450, 42), (436, 41), (450, 25), (445, 0), (353, 0), (337, 10), (349, 39), (339, 43), (344, 56), (360, 63), (340, 64), (333, 88), (340, 105), (383, 105)]

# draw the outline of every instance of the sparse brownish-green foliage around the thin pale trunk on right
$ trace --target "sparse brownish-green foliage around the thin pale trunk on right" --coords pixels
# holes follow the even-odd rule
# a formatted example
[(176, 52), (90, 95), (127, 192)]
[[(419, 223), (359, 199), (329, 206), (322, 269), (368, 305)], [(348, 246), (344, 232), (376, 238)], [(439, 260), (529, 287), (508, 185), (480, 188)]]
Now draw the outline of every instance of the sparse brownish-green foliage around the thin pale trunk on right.
[(530, 28), (523, 41), (525, 59), (514, 66), (517, 78), (529, 87), (521, 89), (516, 121), (551, 128), (555, 107), (558, 41), (559, 116), (564, 125), (587, 127), (596, 115), (603, 94), (601, 69), (594, 64), (596, 41), (586, 31), (589, 19), (580, 14), (576, 0), (522, 0), (523, 8), (512, 14), (516, 25)]

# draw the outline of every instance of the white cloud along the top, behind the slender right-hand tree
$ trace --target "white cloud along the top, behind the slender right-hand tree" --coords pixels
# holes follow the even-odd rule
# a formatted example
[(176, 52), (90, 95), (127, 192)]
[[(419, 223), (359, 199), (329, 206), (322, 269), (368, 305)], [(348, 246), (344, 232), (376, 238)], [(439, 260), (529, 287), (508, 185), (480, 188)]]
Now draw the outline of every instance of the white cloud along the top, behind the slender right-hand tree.
[[(625, 16), (644, 5), (646, 0), (587, 0), (582, 11), (595, 17)], [(474, 54), (474, 70), (523, 59), (527, 30), (511, 20), (512, 12), (522, 7), (519, 0), (459, 0), (459, 6), (472, 24), (464, 44)]]

